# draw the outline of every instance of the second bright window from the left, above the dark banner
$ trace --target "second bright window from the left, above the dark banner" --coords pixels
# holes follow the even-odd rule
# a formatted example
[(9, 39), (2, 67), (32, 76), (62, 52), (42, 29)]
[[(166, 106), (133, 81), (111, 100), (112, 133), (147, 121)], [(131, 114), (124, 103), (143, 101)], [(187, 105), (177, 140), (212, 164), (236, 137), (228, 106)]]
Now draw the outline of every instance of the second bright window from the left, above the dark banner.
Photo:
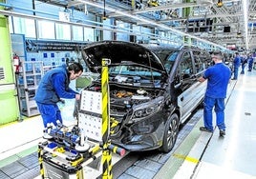
[(55, 30), (53, 22), (38, 21), (38, 30), (39, 38), (55, 39)]

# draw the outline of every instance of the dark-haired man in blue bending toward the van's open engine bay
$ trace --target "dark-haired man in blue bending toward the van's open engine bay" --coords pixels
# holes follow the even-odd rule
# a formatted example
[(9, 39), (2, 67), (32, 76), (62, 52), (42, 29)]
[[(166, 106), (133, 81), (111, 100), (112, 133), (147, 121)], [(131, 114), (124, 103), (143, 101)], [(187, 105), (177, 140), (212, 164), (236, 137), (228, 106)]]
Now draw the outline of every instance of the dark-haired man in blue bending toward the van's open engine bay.
[(83, 72), (79, 63), (73, 63), (68, 67), (63, 65), (47, 71), (40, 80), (34, 96), (38, 110), (42, 116), (44, 127), (48, 124), (57, 126), (57, 121), (62, 124), (62, 117), (57, 103), (61, 98), (80, 99), (80, 94), (69, 87), (71, 80), (75, 80)]

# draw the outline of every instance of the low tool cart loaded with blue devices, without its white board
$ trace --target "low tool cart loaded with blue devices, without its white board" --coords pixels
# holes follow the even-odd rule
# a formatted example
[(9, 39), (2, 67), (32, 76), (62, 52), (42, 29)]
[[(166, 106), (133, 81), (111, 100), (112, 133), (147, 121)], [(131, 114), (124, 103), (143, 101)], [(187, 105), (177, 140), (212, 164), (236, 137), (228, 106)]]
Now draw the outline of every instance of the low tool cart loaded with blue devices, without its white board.
[[(69, 129), (58, 125), (48, 129), (48, 139), (38, 144), (38, 158), (42, 178), (77, 178), (83, 179), (83, 167), (102, 156), (103, 144), (91, 141), (82, 129), (75, 126)], [(121, 156), (124, 149), (108, 143), (105, 150)], [(108, 157), (108, 159), (111, 159)], [(108, 161), (110, 162), (110, 161)], [(110, 163), (108, 163), (108, 167)], [(103, 167), (103, 169), (105, 169)], [(112, 176), (103, 176), (103, 178)], [(86, 178), (86, 177), (85, 177)]]

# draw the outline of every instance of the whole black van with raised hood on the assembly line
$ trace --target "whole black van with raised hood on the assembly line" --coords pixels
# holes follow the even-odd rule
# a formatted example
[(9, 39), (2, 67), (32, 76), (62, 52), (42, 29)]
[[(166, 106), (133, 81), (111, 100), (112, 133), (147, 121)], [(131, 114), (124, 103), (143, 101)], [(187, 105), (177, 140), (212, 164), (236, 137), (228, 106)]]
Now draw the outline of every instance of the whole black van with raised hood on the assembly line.
[[(87, 45), (82, 56), (89, 69), (99, 74), (102, 58), (111, 62), (110, 117), (116, 122), (112, 143), (128, 150), (170, 151), (180, 125), (203, 101), (206, 84), (197, 78), (211, 64), (209, 53), (101, 41)], [(83, 90), (100, 92), (101, 76)]]

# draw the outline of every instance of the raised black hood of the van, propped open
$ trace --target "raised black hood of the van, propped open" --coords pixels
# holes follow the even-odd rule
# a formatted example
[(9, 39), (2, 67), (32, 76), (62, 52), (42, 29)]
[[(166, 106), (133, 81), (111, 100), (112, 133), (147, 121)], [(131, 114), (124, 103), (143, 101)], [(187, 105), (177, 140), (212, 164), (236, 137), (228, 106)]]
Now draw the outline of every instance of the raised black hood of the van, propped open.
[(92, 72), (101, 72), (102, 58), (111, 60), (111, 65), (134, 63), (166, 74), (159, 57), (151, 50), (136, 43), (123, 41), (101, 41), (88, 44), (82, 57)]

